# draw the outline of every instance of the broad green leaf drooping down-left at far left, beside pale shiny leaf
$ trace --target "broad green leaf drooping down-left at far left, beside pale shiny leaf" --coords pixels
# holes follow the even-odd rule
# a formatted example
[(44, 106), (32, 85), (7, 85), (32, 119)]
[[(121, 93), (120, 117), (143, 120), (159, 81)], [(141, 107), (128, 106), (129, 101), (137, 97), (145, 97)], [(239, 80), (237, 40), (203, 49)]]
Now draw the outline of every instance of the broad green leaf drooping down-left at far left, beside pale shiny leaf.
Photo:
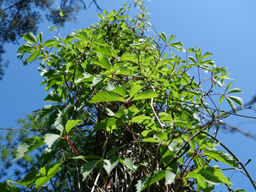
[(45, 144), (43, 138), (33, 137), (26, 138), (18, 145), (18, 149), (15, 152), (15, 158), (12, 160), (15, 161), (19, 158), (23, 158), (26, 154), (30, 153), (32, 150), (37, 149), (39, 146)]

